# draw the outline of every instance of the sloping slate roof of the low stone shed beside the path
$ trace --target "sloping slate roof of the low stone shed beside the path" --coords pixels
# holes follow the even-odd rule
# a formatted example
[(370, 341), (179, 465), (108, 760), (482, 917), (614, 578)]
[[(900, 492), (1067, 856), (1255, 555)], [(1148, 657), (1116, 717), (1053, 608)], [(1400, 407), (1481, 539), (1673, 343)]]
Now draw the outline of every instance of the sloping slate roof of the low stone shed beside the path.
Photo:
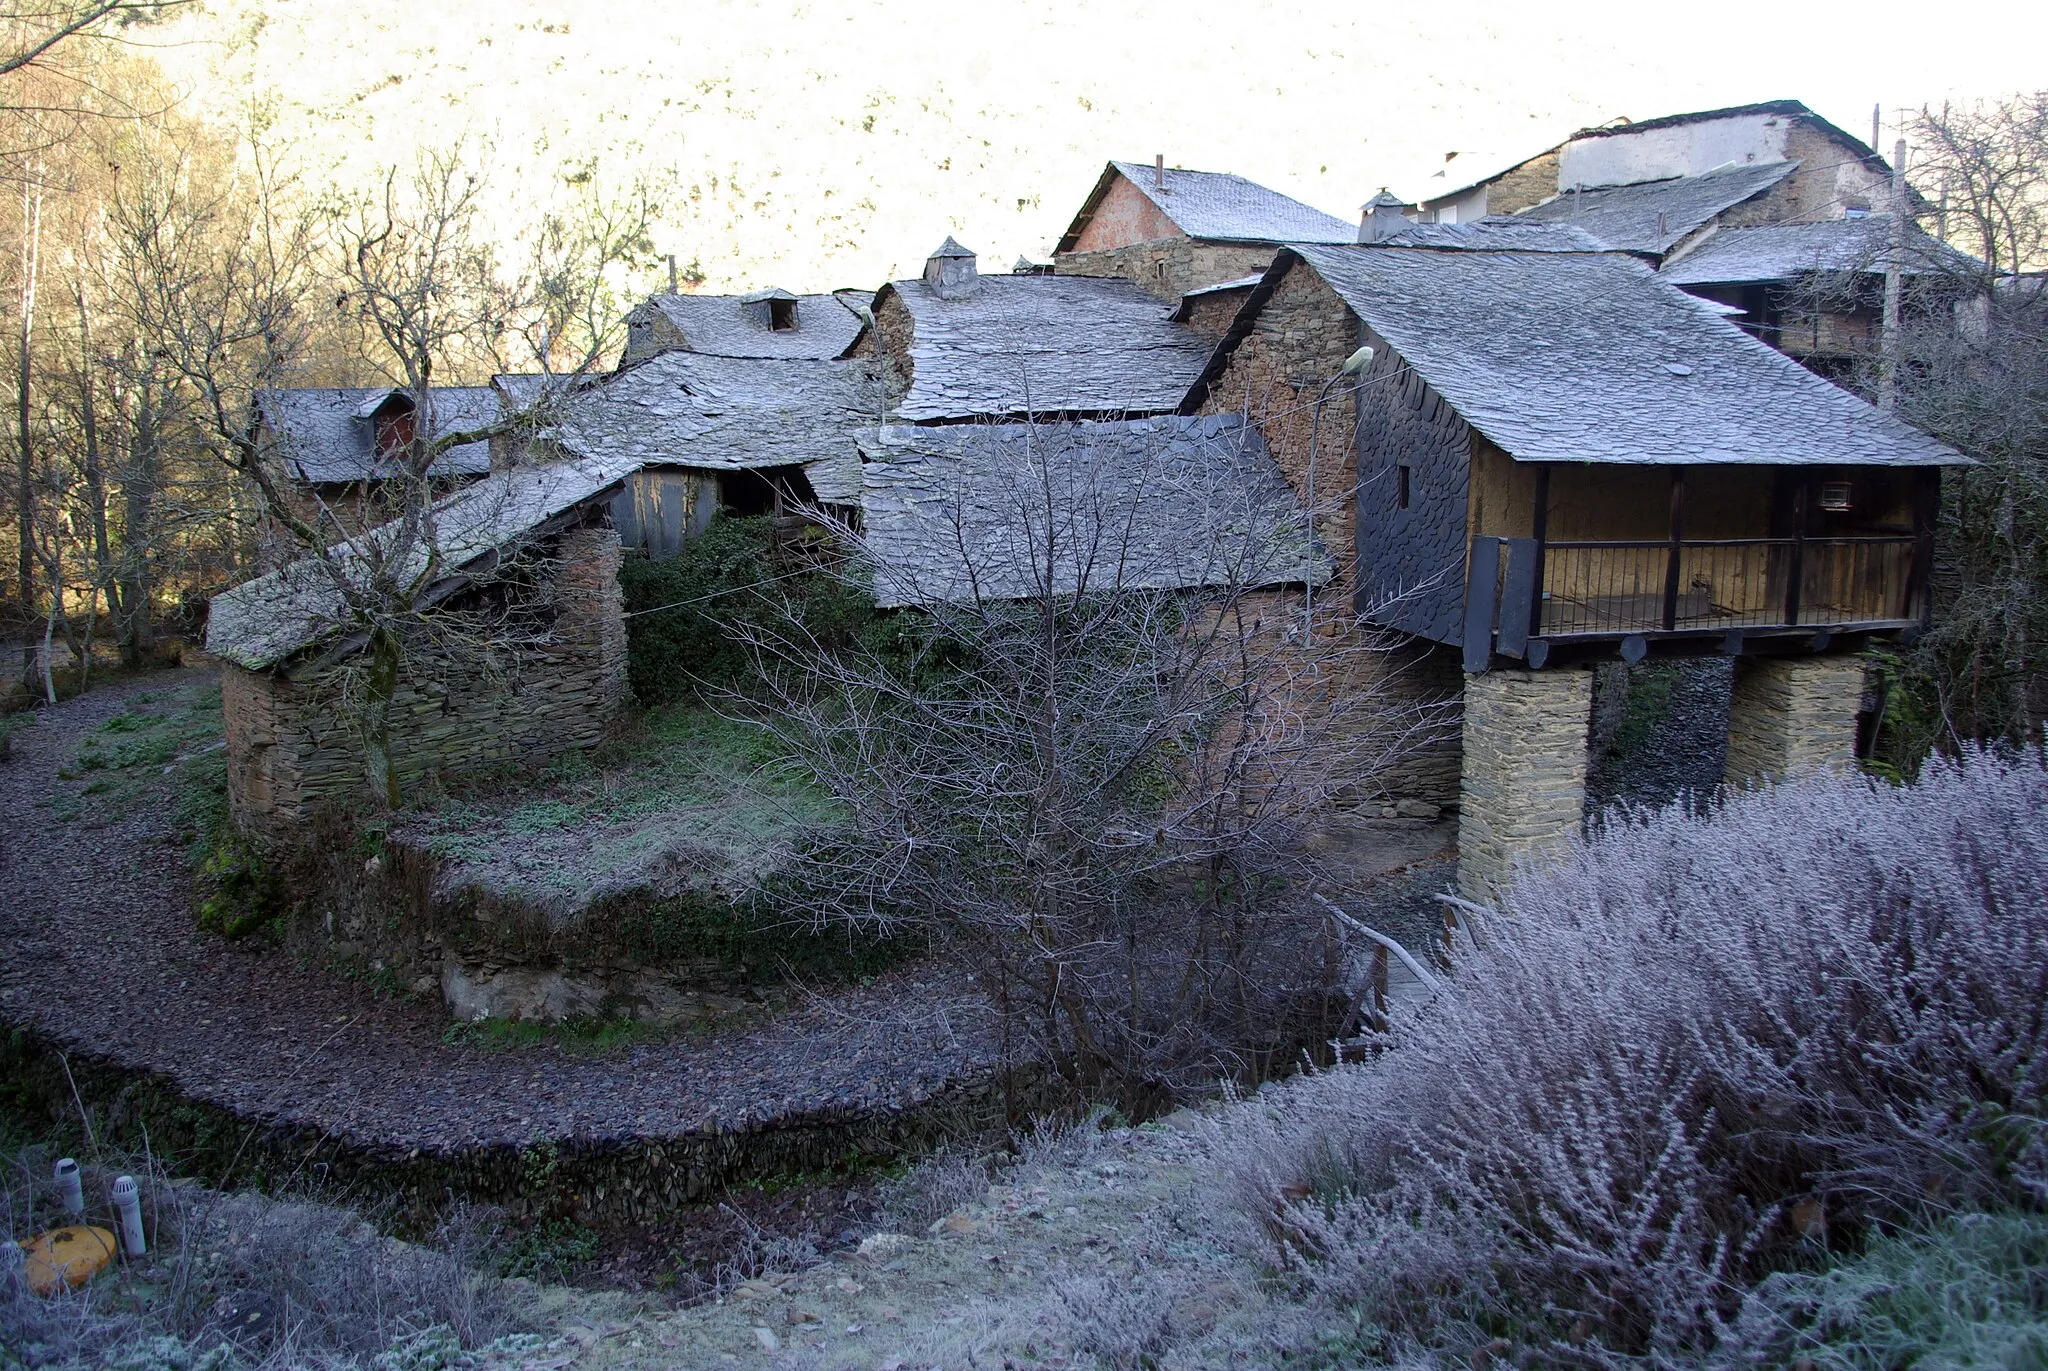
[[(436, 500), (434, 543), (449, 568), (449, 576), (438, 584), (451, 584), (465, 566), (530, 537), (557, 514), (606, 494), (631, 471), (631, 461), (610, 459), (514, 467)], [(207, 652), (236, 666), (264, 670), (348, 633), (352, 625), (342, 584), (365, 586), (385, 559), (365, 553), (393, 547), (395, 537), (395, 523), (381, 525), (322, 555), (301, 557), (213, 596), (207, 615)], [(418, 543), (387, 572), (393, 578), (416, 576), (426, 566), (426, 545)]]

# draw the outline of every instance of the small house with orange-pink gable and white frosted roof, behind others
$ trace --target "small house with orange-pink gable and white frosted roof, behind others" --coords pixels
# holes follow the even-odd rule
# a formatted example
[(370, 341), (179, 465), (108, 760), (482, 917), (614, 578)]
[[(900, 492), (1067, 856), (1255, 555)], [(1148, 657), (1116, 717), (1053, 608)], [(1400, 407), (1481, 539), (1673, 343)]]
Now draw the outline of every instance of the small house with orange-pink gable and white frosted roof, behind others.
[(1354, 242), (1358, 227), (1229, 172), (1194, 172), (1155, 158), (1110, 162), (1061, 234), (1063, 277), (1122, 277), (1178, 301), (1266, 271), (1288, 242)]

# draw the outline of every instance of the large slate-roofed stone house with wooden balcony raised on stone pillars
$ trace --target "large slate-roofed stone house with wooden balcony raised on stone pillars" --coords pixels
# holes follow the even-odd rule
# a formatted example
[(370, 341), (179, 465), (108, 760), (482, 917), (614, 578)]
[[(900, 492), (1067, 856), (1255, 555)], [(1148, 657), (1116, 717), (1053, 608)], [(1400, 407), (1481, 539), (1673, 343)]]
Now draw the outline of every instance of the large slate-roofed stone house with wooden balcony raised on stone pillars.
[(1464, 887), (1577, 828), (1597, 660), (1735, 658), (1731, 781), (1847, 760), (1853, 654), (1919, 631), (1966, 459), (1628, 254), (1430, 227), (1518, 248), (1290, 248), (1190, 408), (1262, 424), (1343, 549), (1325, 596), (1456, 682), (1454, 756), (1417, 779), (1456, 777)]

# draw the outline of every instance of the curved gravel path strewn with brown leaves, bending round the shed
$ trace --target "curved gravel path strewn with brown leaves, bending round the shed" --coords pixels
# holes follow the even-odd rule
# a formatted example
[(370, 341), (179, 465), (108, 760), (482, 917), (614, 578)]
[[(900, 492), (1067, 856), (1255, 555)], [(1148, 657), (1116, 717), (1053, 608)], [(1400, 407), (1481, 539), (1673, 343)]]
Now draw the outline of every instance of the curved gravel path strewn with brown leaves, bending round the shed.
[[(811, 998), (750, 1033), (641, 1045), (598, 1068), (553, 1045), (442, 1043), (436, 1006), (201, 932), (172, 832), (176, 777), (162, 779), (160, 803), (109, 807), (57, 771), (137, 693), (211, 684), (207, 668), (109, 684), (12, 736), (0, 760), (0, 1016), (252, 1119), (428, 1152), (905, 1107), (995, 1062), (975, 1000), (915, 969)], [(80, 805), (70, 822), (51, 803), (66, 797)]]

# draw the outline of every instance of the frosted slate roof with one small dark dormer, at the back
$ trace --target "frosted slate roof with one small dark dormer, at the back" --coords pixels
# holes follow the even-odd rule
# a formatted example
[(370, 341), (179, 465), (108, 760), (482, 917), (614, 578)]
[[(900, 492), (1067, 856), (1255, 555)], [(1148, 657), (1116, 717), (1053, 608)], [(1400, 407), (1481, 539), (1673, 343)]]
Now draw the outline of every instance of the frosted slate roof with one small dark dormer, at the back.
[(825, 361), (860, 328), (866, 291), (793, 295), (770, 287), (748, 295), (653, 295), (627, 316), (621, 365), (662, 352)]

